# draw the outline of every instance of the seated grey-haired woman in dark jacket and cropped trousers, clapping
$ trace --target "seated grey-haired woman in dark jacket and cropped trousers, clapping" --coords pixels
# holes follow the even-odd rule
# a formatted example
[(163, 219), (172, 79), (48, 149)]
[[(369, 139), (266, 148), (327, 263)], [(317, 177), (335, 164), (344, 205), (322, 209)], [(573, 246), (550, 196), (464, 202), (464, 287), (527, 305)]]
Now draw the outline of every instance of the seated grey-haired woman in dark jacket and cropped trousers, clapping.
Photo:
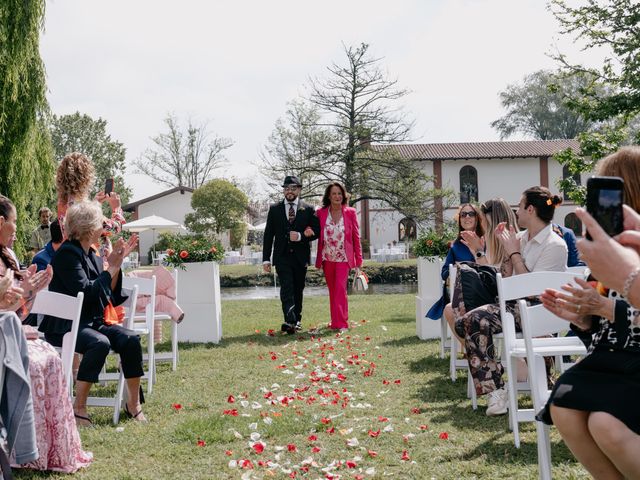
[[(112, 316), (115, 306), (122, 304), (122, 271), (120, 266), (137, 242), (133, 236), (129, 242), (118, 239), (107, 258), (109, 268), (103, 271), (102, 259), (92, 245), (100, 241), (103, 232), (103, 216), (97, 202), (76, 202), (69, 208), (64, 231), (68, 239), (53, 257), (53, 279), (49, 290), (76, 296), (84, 293), (80, 330), (76, 352), (82, 354), (76, 382), (74, 412), (80, 425), (90, 425), (87, 414), (87, 397), (91, 385), (98, 381), (110, 349), (120, 354), (120, 362), (127, 382), (125, 413), (138, 421), (146, 421), (140, 407), (140, 377), (142, 348), (140, 338), (120, 325)], [(62, 345), (62, 338), (71, 323), (45, 316), (40, 330), (53, 345)]]

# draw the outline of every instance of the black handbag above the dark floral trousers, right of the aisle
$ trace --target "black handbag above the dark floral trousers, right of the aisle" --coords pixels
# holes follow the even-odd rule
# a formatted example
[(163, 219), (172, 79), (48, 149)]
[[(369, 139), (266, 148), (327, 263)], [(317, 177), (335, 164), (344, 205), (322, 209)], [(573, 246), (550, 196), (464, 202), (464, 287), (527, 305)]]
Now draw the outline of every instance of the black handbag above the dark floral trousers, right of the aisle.
[(458, 263), (456, 283), (460, 285), (462, 301), (467, 312), (482, 305), (498, 302), (498, 272), (498, 268), (491, 265)]

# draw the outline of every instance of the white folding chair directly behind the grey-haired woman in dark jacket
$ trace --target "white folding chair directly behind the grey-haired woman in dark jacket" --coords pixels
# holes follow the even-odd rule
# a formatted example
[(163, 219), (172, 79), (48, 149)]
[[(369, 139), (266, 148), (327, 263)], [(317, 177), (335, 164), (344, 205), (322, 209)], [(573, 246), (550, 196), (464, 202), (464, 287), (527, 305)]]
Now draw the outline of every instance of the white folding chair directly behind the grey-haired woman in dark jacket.
[(70, 396), (73, 392), (73, 356), (76, 351), (76, 340), (78, 338), (78, 329), (80, 328), (80, 314), (82, 312), (83, 300), (84, 293), (82, 292), (78, 292), (77, 296), (72, 297), (62, 293), (40, 290), (30, 310), (30, 313), (51, 315), (56, 318), (71, 321), (71, 330), (65, 333), (62, 338), (62, 348), (58, 349), (61, 352), (62, 371), (67, 382)]

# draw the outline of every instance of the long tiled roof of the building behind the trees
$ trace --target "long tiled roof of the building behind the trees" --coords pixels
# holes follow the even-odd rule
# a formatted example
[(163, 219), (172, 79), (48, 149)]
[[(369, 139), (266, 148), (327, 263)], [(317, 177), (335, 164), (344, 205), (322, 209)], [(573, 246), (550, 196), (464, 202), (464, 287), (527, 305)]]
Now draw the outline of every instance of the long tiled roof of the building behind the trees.
[(371, 145), (373, 150), (392, 148), (412, 160), (469, 160), (481, 158), (550, 157), (567, 148), (580, 150), (577, 140), (530, 140), (518, 142), (415, 143)]

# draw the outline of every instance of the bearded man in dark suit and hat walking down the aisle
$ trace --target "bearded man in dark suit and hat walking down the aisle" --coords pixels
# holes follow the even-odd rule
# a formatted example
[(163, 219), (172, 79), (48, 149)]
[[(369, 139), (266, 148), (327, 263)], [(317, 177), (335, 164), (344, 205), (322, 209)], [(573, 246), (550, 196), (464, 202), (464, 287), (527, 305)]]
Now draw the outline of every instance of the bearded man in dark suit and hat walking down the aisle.
[(313, 207), (299, 198), (302, 184), (298, 177), (287, 176), (282, 188), (284, 200), (271, 205), (267, 215), (262, 262), (264, 271), (271, 272), (273, 249), (284, 314), (282, 331), (295, 333), (302, 328), (302, 292), (311, 259), (310, 244), (318, 238), (320, 224)]

